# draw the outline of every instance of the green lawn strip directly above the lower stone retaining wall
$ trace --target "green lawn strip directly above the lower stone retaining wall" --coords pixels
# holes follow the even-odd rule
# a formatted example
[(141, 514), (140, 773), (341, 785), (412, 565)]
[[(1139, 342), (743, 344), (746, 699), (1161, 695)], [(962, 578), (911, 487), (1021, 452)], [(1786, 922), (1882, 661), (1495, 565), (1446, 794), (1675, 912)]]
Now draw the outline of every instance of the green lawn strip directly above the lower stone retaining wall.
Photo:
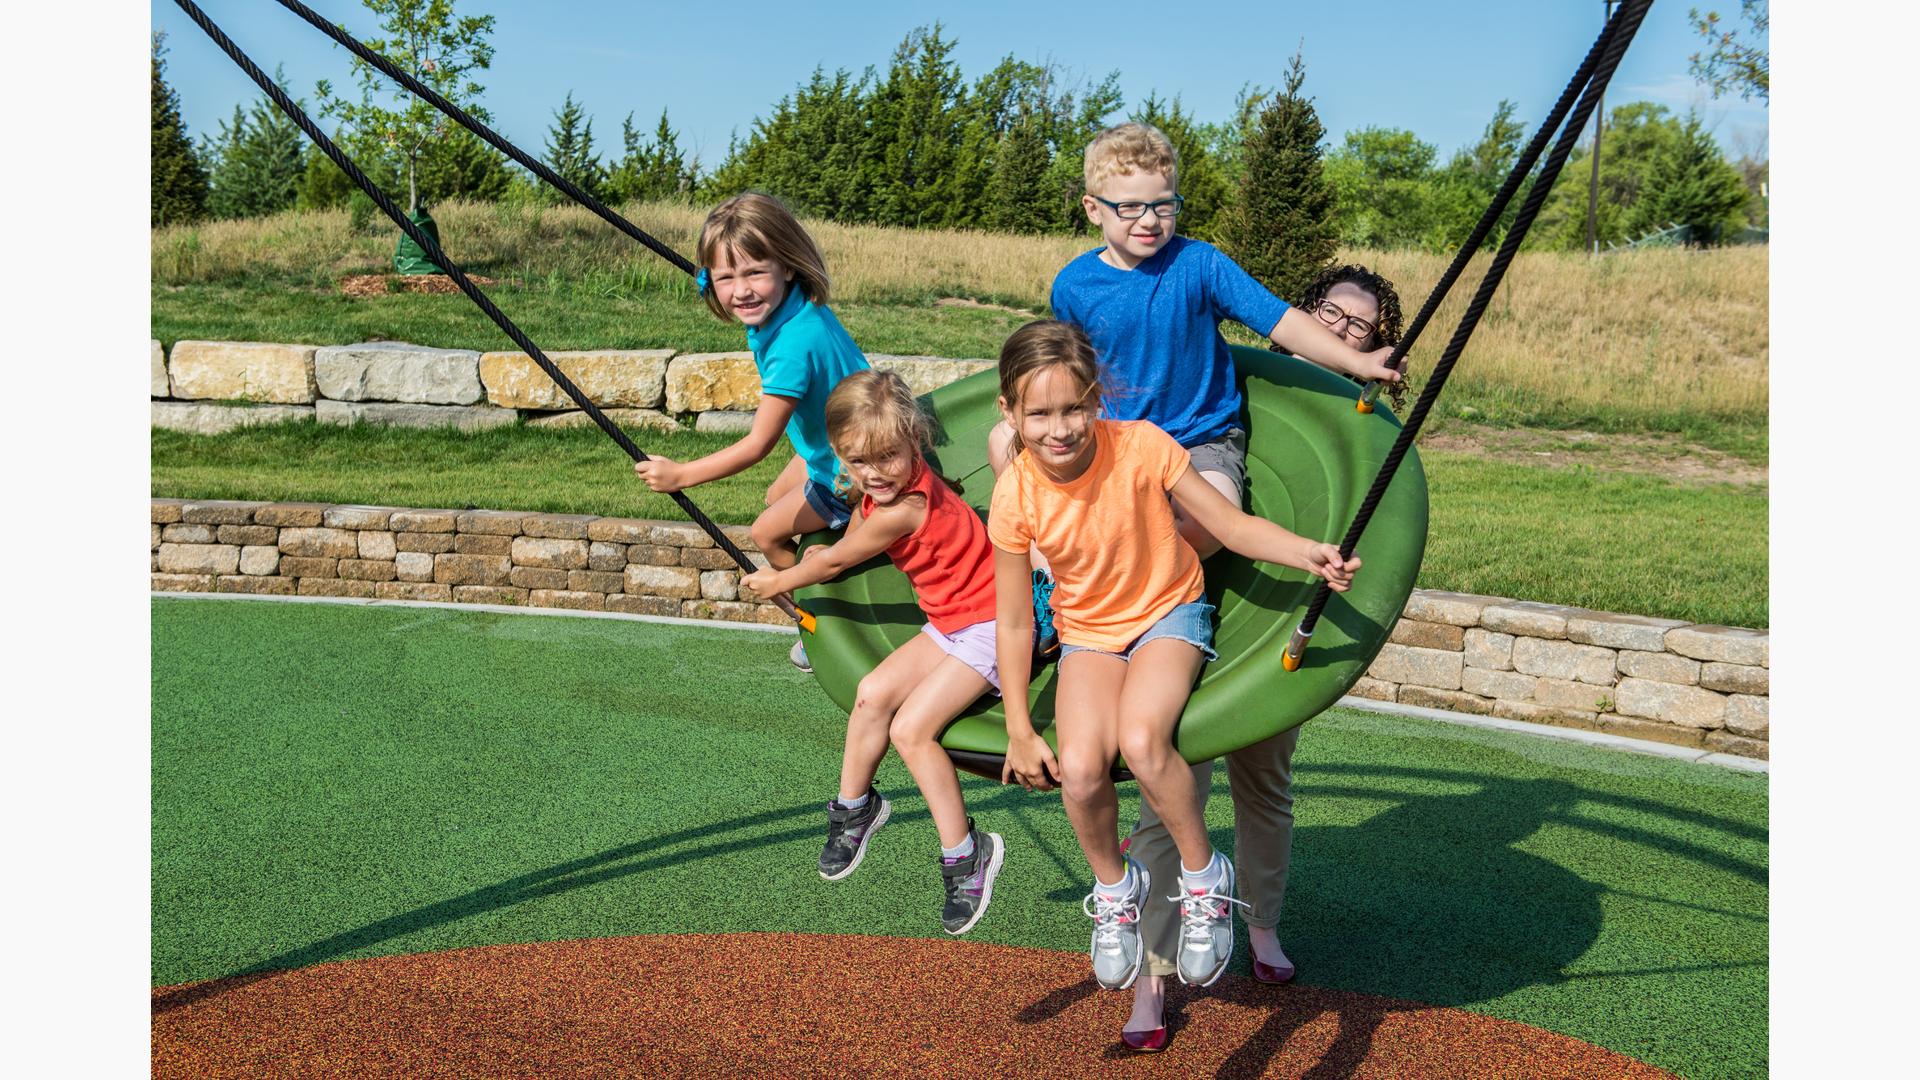
[[(730, 436), (637, 432), (649, 454), (699, 457)], [(789, 452), (693, 490), (714, 521), (747, 523)], [(1572, 603), (1693, 623), (1766, 626), (1766, 490), (1674, 484), (1423, 454), (1432, 527), (1423, 588)], [(152, 494), (678, 519), (597, 429), (422, 432), (294, 423), (221, 436), (152, 432)]]

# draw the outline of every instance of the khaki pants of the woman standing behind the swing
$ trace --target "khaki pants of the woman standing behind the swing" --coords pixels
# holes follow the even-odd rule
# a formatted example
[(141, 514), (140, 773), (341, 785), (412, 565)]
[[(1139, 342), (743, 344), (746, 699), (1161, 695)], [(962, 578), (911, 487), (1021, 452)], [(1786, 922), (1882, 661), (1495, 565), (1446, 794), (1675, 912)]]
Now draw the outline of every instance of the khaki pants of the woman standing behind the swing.
[[(1238, 897), (1252, 905), (1240, 909), (1248, 926), (1281, 922), (1286, 863), (1294, 849), (1292, 784), (1298, 742), (1296, 726), (1227, 755), (1227, 786), (1233, 794), (1233, 872), (1238, 878)], [(1194, 765), (1194, 790), (1200, 794), (1202, 811), (1212, 786), (1213, 763)], [(1133, 830), (1127, 855), (1152, 874), (1150, 896), (1140, 907), (1146, 974), (1173, 974), (1179, 969), (1181, 909), (1167, 897), (1177, 896), (1181, 888), (1181, 851), (1144, 798), (1140, 824)]]

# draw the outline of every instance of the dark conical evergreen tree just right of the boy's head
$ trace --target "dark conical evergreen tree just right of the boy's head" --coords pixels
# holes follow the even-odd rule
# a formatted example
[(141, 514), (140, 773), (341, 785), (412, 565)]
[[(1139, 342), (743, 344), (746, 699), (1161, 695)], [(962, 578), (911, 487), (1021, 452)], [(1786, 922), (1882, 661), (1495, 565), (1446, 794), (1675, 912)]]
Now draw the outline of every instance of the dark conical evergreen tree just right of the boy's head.
[(1254, 279), (1281, 298), (1298, 298), (1332, 261), (1334, 194), (1321, 169), (1321, 127), (1300, 94), (1306, 61), (1294, 52), (1286, 83), (1260, 113), (1246, 150), (1240, 200), (1221, 242)]

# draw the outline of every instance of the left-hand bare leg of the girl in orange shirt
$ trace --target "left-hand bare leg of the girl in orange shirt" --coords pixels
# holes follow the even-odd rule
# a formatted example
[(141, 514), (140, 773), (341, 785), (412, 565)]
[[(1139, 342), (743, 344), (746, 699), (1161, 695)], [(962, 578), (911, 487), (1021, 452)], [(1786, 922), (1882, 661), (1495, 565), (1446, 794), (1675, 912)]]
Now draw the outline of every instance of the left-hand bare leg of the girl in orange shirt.
[(1114, 792), (1114, 719), (1127, 661), (1071, 653), (1060, 661), (1054, 724), (1060, 732), (1060, 796), (1087, 865), (1102, 882), (1127, 872), (1119, 853), (1119, 796)]

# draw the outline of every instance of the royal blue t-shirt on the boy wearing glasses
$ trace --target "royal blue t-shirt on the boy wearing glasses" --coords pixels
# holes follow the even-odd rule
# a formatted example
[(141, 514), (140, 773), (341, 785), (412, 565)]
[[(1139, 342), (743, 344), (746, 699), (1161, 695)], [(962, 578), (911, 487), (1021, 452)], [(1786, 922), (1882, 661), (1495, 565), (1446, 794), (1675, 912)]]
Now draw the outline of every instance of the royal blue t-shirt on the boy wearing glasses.
[(1131, 271), (1100, 261), (1094, 248), (1054, 277), (1054, 317), (1092, 338), (1110, 380), (1106, 415), (1152, 421), (1181, 446), (1200, 446), (1240, 427), (1221, 319), (1267, 336), (1286, 302), (1267, 292), (1204, 240), (1175, 234)]

